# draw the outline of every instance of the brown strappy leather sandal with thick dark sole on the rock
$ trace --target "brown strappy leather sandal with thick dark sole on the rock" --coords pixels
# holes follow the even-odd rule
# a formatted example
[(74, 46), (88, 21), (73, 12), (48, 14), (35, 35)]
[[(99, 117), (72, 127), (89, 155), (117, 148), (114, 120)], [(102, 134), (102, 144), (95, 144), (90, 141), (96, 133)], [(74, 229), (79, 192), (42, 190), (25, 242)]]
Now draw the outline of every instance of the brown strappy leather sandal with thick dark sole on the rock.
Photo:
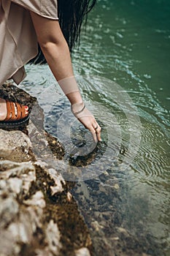
[(17, 102), (7, 103), (7, 116), (3, 121), (0, 121), (0, 129), (15, 129), (19, 127), (26, 127), (29, 120), (28, 111), (25, 106)]

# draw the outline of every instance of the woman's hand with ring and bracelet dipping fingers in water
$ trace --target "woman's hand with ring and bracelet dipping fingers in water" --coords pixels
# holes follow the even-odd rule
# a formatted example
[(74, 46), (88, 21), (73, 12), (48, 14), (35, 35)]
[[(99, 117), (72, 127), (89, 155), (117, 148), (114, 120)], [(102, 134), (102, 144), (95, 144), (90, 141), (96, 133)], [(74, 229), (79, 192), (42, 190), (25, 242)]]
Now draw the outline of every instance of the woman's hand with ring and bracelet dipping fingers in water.
[(101, 127), (97, 123), (93, 114), (85, 107), (84, 102), (75, 103), (72, 105), (72, 113), (84, 125), (85, 128), (93, 135), (93, 139), (101, 141)]

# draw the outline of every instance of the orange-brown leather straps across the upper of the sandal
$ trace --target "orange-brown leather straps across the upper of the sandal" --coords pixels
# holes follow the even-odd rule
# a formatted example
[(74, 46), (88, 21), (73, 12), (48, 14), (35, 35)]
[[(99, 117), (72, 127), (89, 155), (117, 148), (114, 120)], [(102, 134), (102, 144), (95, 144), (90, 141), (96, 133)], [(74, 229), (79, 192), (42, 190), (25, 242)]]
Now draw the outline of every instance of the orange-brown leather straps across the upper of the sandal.
[(4, 121), (15, 121), (19, 119), (25, 118), (26, 115), (26, 108), (23, 105), (20, 105), (18, 102), (7, 102), (7, 117)]

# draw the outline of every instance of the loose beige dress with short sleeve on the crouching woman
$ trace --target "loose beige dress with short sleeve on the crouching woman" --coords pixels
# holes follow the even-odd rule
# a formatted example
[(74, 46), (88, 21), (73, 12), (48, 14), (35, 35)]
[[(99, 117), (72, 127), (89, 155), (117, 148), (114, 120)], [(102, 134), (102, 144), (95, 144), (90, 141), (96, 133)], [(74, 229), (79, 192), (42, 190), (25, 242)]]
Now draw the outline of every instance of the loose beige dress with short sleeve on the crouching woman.
[(38, 53), (30, 10), (58, 20), (57, 0), (0, 0), (0, 85), (9, 78), (20, 83)]

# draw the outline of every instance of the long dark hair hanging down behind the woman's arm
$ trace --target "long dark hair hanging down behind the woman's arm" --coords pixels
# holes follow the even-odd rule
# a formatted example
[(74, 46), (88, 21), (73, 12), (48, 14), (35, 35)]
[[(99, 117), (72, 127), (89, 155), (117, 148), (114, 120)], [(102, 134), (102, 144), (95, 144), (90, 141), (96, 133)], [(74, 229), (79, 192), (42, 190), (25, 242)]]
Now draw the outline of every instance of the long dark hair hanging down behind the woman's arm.
[[(80, 44), (82, 23), (87, 23), (88, 12), (93, 9), (96, 0), (58, 0), (58, 18), (63, 36), (72, 53), (74, 46)], [(38, 55), (29, 61), (34, 64), (45, 64), (45, 56), (39, 47)]]

